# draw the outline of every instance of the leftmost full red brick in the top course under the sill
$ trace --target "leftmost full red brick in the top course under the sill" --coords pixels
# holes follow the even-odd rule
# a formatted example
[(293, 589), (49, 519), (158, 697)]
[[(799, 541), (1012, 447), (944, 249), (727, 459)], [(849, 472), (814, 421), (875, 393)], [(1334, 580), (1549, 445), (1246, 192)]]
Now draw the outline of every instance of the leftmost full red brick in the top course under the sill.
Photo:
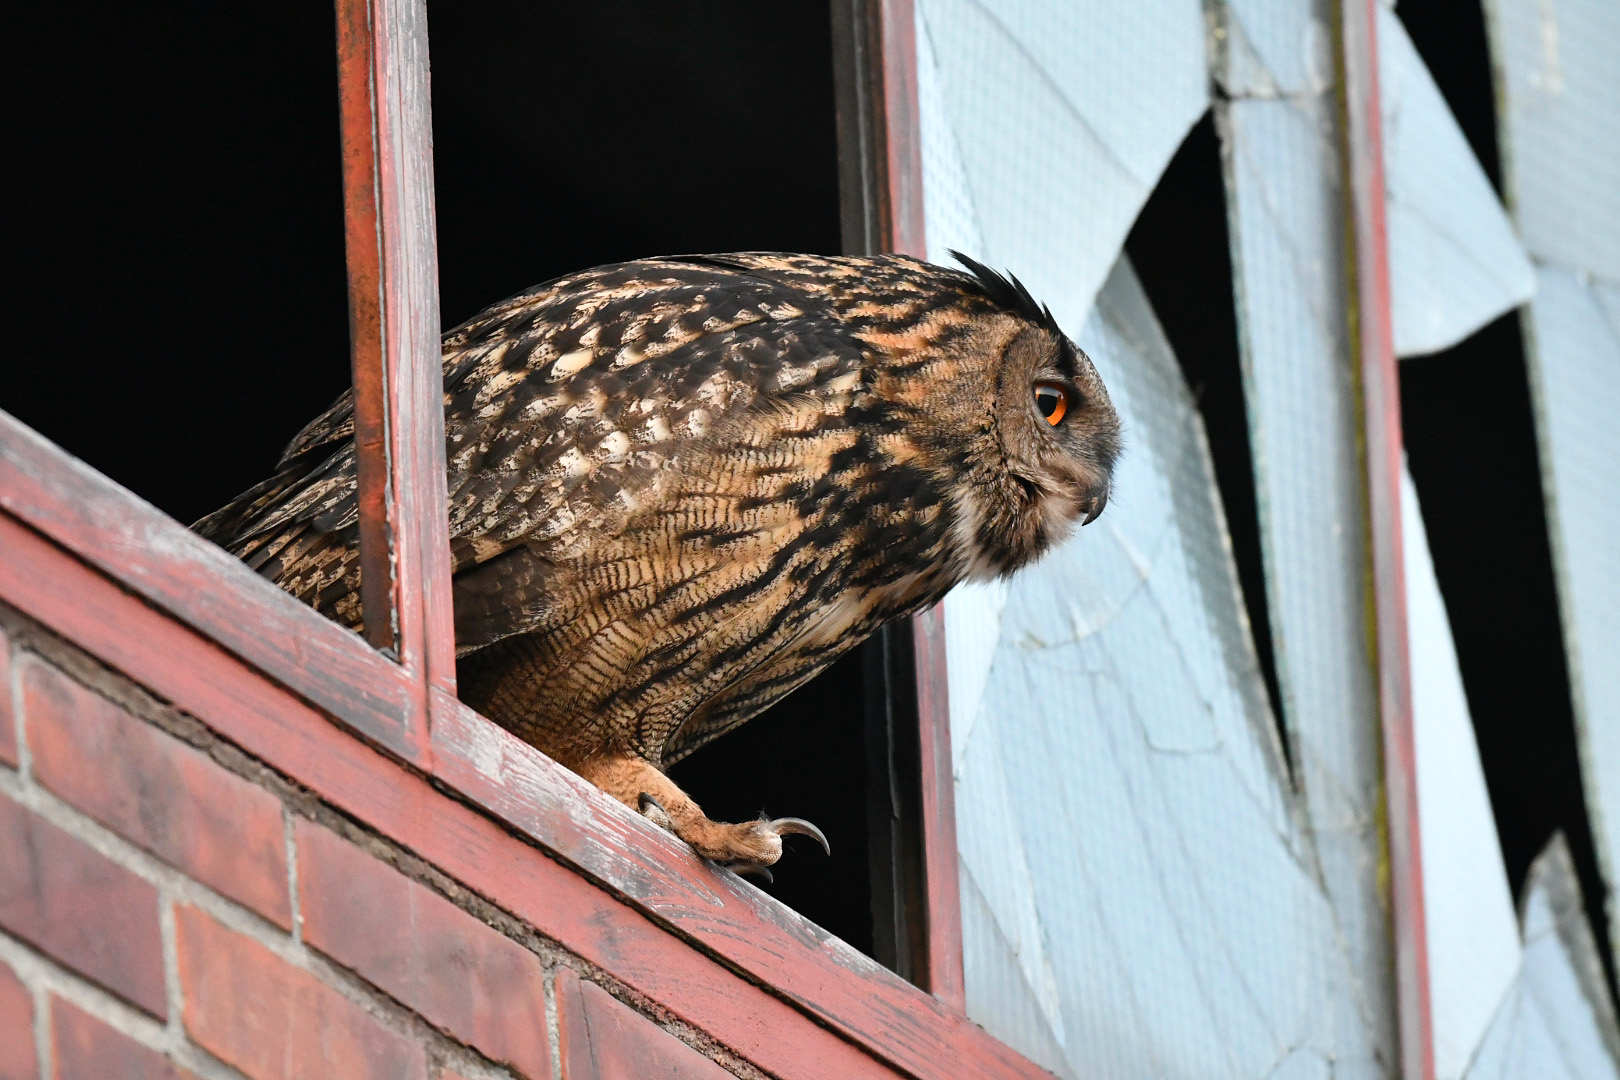
[(34, 776), (109, 829), (292, 928), (282, 805), (55, 669), (23, 665)]

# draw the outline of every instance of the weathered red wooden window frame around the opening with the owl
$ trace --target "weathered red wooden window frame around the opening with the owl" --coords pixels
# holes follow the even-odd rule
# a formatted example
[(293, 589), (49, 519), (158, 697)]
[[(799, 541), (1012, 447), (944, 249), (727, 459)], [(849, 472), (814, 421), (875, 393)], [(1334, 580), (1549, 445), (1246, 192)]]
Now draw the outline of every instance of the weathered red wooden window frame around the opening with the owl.
[[(912, 3), (860, 10), (883, 118), (883, 246), (922, 254)], [(888, 1069), (1045, 1077), (962, 1014), (938, 612), (919, 617), (915, 636), (935, 994), (698, 860), (455, 698), (424, 2), (337, 0), (337, 31), (366, 638), (5, 413), (0, 599), (295, 779), (319, 771), (316, 790), (343, 795), (332, 777), (348, 776), (355, 798), (368, 792), (369, 813), (402, 831), (429, 827), (416, 806), (431, 777), (661, 928), (617, 936), (608, 970), (667, 967), (674, 936)], [(389, 758), (402, 772), (377, 795)]]

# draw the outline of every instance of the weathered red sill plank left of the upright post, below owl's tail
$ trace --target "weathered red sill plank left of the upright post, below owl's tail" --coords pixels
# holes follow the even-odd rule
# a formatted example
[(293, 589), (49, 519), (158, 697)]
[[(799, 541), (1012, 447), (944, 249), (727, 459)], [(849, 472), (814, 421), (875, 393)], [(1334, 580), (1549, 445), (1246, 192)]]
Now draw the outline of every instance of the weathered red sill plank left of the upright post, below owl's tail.
[(358, 733), (418, 763), (397, 664), (44, 436), (0, 411), (0, 508)]

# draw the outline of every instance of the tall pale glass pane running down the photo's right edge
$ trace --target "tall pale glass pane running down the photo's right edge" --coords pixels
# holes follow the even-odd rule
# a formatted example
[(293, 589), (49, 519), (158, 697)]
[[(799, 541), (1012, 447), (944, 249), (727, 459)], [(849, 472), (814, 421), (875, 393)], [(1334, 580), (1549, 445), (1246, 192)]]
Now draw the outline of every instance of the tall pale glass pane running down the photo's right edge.
[[(1597, 861), (1620, 886), (1620, 5), (1487, 0), (1507, 186)], [(1609, 907), (1620, 950), (1620, 905)]]

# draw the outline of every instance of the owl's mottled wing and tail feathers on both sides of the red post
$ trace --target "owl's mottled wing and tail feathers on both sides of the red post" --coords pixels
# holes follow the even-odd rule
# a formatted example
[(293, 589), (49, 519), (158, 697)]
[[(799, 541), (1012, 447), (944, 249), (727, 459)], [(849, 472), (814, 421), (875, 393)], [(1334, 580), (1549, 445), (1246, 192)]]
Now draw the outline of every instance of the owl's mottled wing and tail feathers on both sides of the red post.
[[(860, 351), (778, 282), (680, 261), (559, 279), (446, 337), (457, 646), (565, 614), (556, 568), (656, 517), (680, 470), (753, 439)], [(352, 397), (288, 445), (282, 471), (198, 529), (300, 599), (358, 625)]]

